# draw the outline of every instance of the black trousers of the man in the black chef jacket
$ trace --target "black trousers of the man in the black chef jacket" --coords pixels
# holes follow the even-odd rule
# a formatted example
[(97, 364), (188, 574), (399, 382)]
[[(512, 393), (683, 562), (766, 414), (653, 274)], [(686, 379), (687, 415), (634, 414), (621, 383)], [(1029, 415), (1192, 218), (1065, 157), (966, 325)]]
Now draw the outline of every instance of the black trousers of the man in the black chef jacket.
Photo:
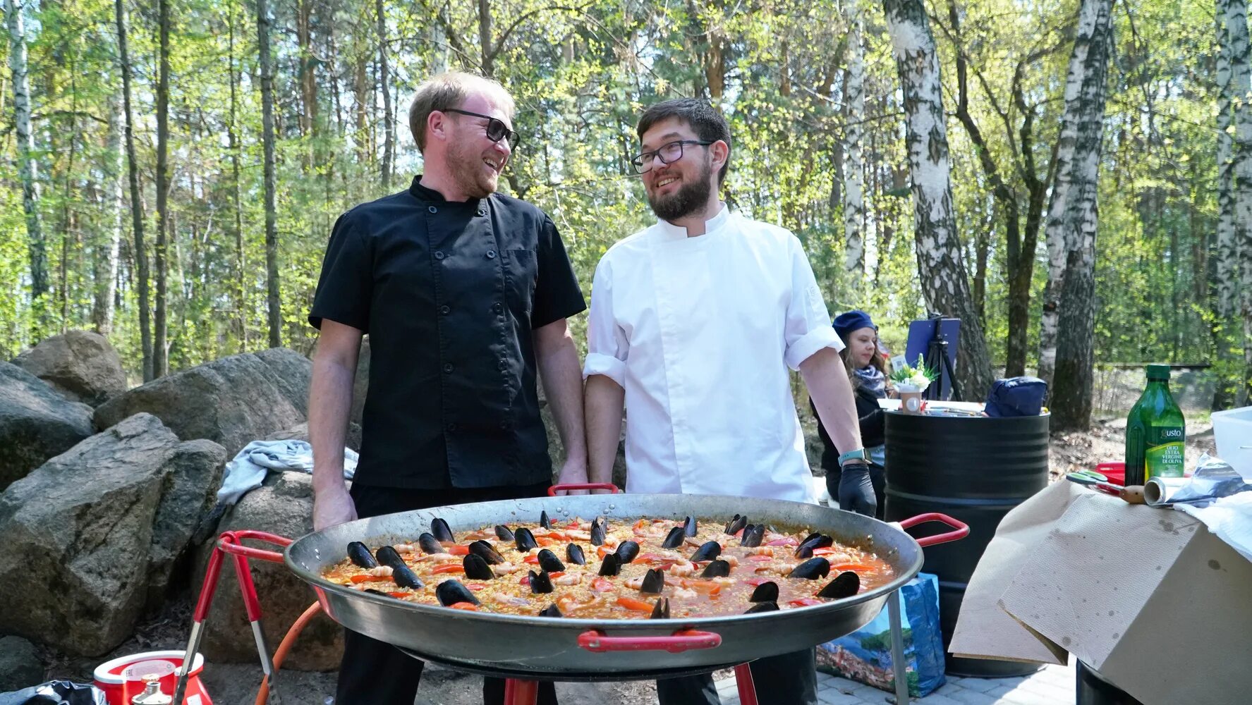
[[(361, 518), (424, 510), (470, 502), (493, 502), (541, 497), (548, 483), (525, 487), (483, 487), (449, 490), (397, 490), (394, 487), (352, 486), (352, 501)], [(424, 664), (391, 644), (344, 630), (343, 661), (339, 664), (339, 682), (336, 687), (337, 705), (413, 705)], [(485, 705), (505, 701), (505, 681), (485, 677), (482, 682)], [(556, 690), (551, 682), (540, 684), (540, 705), (556, 705)]]

